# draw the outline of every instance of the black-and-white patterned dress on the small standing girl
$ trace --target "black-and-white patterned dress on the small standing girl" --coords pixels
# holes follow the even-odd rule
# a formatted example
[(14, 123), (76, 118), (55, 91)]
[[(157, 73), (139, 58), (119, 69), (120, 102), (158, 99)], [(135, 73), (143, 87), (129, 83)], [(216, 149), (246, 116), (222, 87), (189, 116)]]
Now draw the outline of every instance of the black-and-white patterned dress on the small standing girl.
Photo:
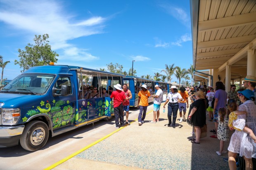
[(223, 122), (220, 121), (220, 116), (218, 116), (218, 134), (217, 137), (219, 140), (228, 141), (228, 119), (224, 118)]

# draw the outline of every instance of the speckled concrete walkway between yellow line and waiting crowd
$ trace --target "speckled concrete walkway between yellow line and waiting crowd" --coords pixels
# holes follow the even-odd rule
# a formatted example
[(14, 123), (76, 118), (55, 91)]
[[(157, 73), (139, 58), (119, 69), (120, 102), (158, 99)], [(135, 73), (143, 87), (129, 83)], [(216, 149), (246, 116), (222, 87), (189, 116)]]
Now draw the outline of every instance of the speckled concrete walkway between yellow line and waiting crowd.
[[(162, 104), (163, 105), (163, 104)], [(153, 118), (153, 105), (149, 105), (145, 123), (135, 121), (105, 140), (93, 145), (54, 170), (228, 170), (228, 163), (218, 156), (219, 140), (211, 138), (209, 130), (214, 123), (208, 121), (208, 135), (200, 144), (192, 144), (192, 127), (187, 122), (176, 121), (176, 128), (168, 127), (166, 113), (160, 109), (160, 121), (149, 123)], [(188, 112), (188, 110), (187, 110)], [(137, 117), (137, 110), (130, 117)], [(187, 117), (187, 113), (186, 113)], [(179, 119), (179, 113), (178, 117)], [(134, 119), (133, 119), (134, 120)], [(114, 119), (113, 119), (114, 121)], [(114, 126), (113, 126), (114, 129)], [(231, 136), (231, 134), (230, 134)], [(194, 137), (194, 136), (193, 136)], [(228, 142), (224, 149), (227, 150)]]

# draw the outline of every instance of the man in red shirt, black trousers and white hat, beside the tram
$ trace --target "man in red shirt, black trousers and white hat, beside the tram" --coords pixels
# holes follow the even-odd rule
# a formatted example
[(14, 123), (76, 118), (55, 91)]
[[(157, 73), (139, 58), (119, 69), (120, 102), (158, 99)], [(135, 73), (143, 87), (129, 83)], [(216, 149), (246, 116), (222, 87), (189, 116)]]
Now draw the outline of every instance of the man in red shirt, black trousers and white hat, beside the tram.
[(123, 102), (126, 100), (125, 93), (122, 91), (122, 86), (120, 84), (114, 85), (116, 91), (111, 93), (110, 98), (114, 98), (114, 114), (116, 119), (116, 128), (119, 128), (119, 119), (121, 126), (124, 126), (123, 121)]

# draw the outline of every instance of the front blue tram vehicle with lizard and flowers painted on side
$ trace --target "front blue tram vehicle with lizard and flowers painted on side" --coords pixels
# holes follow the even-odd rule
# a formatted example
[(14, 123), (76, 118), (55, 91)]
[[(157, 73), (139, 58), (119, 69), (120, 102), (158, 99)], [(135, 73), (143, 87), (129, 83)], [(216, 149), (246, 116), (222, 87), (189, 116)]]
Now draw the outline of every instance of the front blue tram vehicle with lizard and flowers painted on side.
[(123, 75), (52, 63), (33, 67), (7, 84), (0, 91), (0, 147), (21, 144), (36, 151), (49, 135), (111, 119), (109, 97), (79, 98), (84, 96), (84, 76), (98, 89), (123, 82)]

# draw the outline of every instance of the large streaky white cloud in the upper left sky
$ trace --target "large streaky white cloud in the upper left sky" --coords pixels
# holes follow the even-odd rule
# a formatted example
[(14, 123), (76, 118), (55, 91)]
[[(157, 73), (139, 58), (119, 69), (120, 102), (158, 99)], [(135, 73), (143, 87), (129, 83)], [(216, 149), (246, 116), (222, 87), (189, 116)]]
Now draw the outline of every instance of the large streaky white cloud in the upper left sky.
[[(30, 36), (49, 34), (50, 45), (53, 50), (64, 49), (68, 55), (74, 52), (74, 45), (68, 41), (103, 33), (104, 22), (101, 16), (76, 21), (73, 14), (69, 14), (59, 1), (43, 0), (2, 0), (0, 1), (0, 21), (7, 23), (15, 30), (25, 30)], [(72, 51), (73, 50), (73, 51)], [(76, 56), (84, 56), (89, 60), (98, 57), (76, 48)], [(79, 59), (80, 57), (74, 57)]]

